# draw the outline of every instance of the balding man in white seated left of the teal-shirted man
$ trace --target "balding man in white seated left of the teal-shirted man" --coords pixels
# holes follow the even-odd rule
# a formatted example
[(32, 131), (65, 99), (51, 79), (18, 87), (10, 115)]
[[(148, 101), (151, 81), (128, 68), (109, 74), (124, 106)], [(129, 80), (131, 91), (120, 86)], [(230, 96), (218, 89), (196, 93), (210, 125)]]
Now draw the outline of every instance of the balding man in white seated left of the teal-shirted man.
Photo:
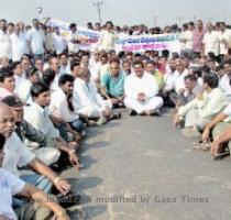
[(80, 68), (74, 82), (74, 107), (78, 112), (88, 117), (99, 119), (99, 124), (111, 118), (112, 103), (102, 100), (96, 86), (90, 81), (88, 68)]

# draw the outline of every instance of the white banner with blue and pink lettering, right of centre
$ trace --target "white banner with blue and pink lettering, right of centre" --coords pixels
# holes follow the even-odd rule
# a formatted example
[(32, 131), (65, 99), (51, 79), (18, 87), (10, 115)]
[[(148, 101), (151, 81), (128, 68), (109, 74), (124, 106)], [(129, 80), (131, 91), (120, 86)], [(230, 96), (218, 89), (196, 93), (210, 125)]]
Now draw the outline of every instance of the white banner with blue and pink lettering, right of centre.
[(164, 51), (170, 53), (180, 52), (180, 43), (177, 34), (136, 35), (119, 38), (116, 43), (116, 51), (145, 52)]

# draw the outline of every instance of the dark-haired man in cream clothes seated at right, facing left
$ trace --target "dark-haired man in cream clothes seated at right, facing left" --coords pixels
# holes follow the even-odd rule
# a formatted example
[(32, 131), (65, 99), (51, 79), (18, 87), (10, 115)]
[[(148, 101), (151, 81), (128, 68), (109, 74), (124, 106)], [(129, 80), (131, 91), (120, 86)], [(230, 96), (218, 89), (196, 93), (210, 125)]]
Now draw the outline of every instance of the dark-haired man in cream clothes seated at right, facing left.
[(204, 76), (204, 95), (178, 109), (174, 119), (176, 125), (180, 118), (185, 118), (185, 127), (204, 131), (205, 127), (212, 121), (215, 116), (227, 107), (226, 94), (218, 88), (219, 78), (216, 74)]

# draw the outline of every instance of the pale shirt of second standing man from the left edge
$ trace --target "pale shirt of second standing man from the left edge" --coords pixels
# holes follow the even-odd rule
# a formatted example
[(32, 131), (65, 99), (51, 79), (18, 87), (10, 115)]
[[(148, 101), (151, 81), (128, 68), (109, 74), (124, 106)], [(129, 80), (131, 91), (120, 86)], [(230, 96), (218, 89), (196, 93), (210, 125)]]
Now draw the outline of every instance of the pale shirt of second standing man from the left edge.
[(29, 54), (25, 35), (12, 33), (10, 37), (12, 42), (12, 59), (13, 62), (19, 62), (23, 54)]

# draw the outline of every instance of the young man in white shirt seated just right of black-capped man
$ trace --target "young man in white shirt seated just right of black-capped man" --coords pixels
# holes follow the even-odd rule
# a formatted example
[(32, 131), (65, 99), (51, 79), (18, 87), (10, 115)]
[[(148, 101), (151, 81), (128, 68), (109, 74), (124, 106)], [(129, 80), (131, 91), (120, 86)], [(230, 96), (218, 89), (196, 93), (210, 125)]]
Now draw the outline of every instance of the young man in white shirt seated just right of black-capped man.
[[(59, 136), (59, 132), (54, 128), (50, 118), (51, 116), (47, 112), (47, 107), (51, 101), (50, 88), (43, 82), (36, 82), (31, 87), (31, 96), (33, 103), (24, 109), (24, 119), (36, 130), (56, 140), (57, 148), (63, 153), (61, 160), (68, 157), (70, 164), (78, 167), (76, 145), (72, 142), (65, 142)], [(30, 142), (29, 144), (33, 145)]]

